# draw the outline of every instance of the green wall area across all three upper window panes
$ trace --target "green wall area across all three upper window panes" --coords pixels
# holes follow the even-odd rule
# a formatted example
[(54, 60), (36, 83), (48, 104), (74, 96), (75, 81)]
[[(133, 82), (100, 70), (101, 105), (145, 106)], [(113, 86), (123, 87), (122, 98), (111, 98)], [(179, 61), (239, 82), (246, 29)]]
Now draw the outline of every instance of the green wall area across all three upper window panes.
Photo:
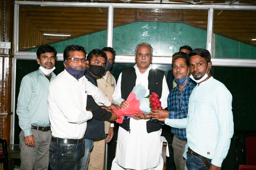
[[(154, 55), (171, 56), (180, 46), (206, 48), (205, 30), (183, 23), (172, 22), (133, 22), (113, 30), (113, 48), (116, 54), (133, 55), (140, 42), (149, 42)], [(78, 44), (86, 52), (107, 45), (107, 31), (100, 31), (74, 39), (51, 44), (59, 53), (70, 44)], [(36, 52), (37, 48), (28, 50)], [(256, 47), (215, 34), (215, 57), (218, 58), (255, 58)]]

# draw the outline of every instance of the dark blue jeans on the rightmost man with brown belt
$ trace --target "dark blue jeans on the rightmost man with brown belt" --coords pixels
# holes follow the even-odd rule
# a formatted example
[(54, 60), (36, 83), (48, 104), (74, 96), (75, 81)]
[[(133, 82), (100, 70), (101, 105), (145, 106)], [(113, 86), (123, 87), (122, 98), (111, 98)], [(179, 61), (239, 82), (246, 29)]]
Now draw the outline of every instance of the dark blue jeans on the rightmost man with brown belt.
[[(211, 165), (212, 159), (205, 158)], [(198, 156), (187, 153), (186, 166), (188, 170), (208, 170), (209, 168), (204, 164), (202, 159)]]

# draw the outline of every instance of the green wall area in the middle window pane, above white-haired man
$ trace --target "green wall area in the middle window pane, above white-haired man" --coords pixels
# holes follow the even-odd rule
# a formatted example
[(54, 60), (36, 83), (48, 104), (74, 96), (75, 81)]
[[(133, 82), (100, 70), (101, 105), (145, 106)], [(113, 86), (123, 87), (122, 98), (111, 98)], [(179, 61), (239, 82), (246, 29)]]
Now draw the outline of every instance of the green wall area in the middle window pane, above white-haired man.
[(134, 22), (113, 30), (113, 48), (117, 54), (133, 55), (140, 42), (148, 42), (154, 55), (171, 56), (180, 46), (206, 48), (207, 32), (183, 23)]

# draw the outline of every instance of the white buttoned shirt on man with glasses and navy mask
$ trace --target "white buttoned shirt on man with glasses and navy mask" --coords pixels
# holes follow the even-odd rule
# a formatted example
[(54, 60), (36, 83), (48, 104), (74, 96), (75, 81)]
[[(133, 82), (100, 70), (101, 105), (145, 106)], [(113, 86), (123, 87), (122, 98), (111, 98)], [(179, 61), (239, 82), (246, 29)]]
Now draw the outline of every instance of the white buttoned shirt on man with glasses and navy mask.
[(53, 137), (81, 139), (92, 112), (86, 111), (87, 94), (105, 106), (108, 98), (84, 76), (78, 80), (66, 70), (51, 83), (48, 93), (49, 119)]

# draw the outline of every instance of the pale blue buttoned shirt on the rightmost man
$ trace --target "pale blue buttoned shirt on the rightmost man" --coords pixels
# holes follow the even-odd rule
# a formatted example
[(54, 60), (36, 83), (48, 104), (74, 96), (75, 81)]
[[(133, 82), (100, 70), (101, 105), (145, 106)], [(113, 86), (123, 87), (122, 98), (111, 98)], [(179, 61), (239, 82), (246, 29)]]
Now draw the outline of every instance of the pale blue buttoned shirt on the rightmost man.
[(234, 134), (232, 95), (225, 85), (210, 77), (197, 85), (189, 98), (188, 117), (165, 119), (165, 124), (186, 128), (187, 148), (212, 159), (212, 164), (221, 167), (228, 154)]

